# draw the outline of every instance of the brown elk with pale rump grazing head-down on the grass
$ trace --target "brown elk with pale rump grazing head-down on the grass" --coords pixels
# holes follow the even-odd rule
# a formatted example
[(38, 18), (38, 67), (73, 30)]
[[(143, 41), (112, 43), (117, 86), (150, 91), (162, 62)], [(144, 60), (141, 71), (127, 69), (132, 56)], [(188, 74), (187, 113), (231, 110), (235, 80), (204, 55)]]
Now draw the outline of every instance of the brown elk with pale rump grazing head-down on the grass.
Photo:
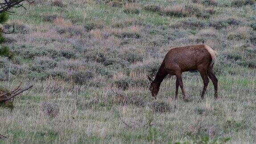
[(209, 83), (209, 77), (214, 85), (214, 96), (215, 99), (217, 99), (218, 80), (212, 71), (216, 54), (217, 52), (215, 52), (214, 50), (212, 50), (212, 48), (205, 44), (171, 49), (164, 57), (164, 60), (158, 72), (156, 73), (155, 79), (152, 80), (148, 76), (148, 79), (151, 82), (149, 89), (152, 93), (152, 96), (156, 99), (160, 84), (164, 80), (164, 77), (169, 74), (172, 76), (176, 76), (175, 99), (177, 98), (178, 88), (180, 86), (183, 99), (186, 100), (186, 94), (183, 88), (181, 74), (182, 72), (198, 70), (204, 81), (204, 89), (201, 94), (201, 98), (204, 99), (204, 95)]

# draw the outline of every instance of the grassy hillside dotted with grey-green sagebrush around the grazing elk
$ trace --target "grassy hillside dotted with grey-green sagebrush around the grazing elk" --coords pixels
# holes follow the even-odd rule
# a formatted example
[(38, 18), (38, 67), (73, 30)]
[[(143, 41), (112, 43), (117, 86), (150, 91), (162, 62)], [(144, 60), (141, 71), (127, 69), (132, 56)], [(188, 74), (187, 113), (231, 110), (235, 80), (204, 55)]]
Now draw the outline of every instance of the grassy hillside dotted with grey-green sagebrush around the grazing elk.
[[(256, 143), (255, 0), (36, 0), (10, 16), (14, 60), (0, 86), (34, 87), (0, 107), (0, 143)], [(183, 73), (189, 102), (153, 75), (171, 48), (218, 52), (200, 101), (199, 73)], [(0, 137), (1, 138), (1, 137)]]

